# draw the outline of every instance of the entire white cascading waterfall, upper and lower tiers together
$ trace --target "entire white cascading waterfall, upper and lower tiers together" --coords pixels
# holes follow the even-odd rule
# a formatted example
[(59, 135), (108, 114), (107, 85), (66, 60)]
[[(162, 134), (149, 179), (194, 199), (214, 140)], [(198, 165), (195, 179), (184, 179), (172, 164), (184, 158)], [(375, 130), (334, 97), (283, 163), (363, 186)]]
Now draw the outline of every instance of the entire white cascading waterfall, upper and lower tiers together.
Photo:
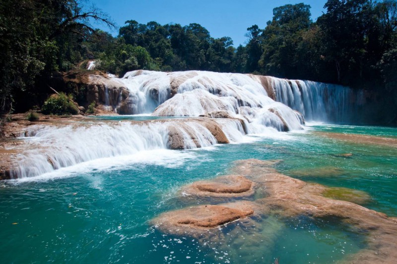
[[(15, 156), (11, 177), (32, 177), (89, 160), (147, 150), (208, 147), (219, 143), (216, 135), (220, 134), (227, 138), (222, 142), (242, 142), (246, 134), (300, 130), (303, 116), (345, 122), (354, 108), (354, 93), (346, 87), (268, 76), (138, 70), (123, 78), (94, 76), (92, 80), (100, 80), (104, 87), (106, 109), (117, 109), (115, 102), (128, 102), (133, 114), (229, 118), (31, 126), (24, 138), (25, 149)], [(125, 102), (122, 89), (128, 90)], [(171, 139), (170, 133), (177, 136)]]

